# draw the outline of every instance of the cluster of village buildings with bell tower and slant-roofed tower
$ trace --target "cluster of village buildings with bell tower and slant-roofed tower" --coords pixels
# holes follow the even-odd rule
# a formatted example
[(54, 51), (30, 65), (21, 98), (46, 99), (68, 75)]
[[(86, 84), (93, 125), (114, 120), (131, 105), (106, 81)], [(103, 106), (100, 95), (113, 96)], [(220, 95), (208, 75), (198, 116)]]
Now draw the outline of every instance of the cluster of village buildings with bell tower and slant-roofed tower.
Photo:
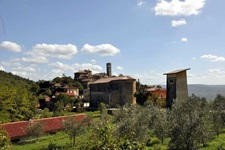
[[(74, 73), (74, 82), (81, 83), (82, 92), (79, 91), (79, 88), (68, 84), (54, 82), (48, 84), (46, 88), (51, 87), (52, 95), (40, 99), (37, 107), (40, 109), (47, 107), (53, 110), (56, 97), (59, 93), (64, 93), (69, 97), (82, 99), (81, 107), (84, 108), (97, 108), (100, 103), (107, 104), (109, 108), (116, 108), (125, 104), (143, 104), (149, 99), (149, 96), (154, 105), (171, 108), (173, 99), (188, 96), (186, 71), (189, 69), (165, 73), (164, 75), (167, 75), (167, 89), (165, 89), (160, 85), (143, 86), (139, 83), (139, 80), (137, 81), (130, 76), (113, 76), (111, 63), (107, 63), (106, 73), (92, 74), (92, 71), (88, 69)], [(144, 101), (143, 97), (146, 97)]]

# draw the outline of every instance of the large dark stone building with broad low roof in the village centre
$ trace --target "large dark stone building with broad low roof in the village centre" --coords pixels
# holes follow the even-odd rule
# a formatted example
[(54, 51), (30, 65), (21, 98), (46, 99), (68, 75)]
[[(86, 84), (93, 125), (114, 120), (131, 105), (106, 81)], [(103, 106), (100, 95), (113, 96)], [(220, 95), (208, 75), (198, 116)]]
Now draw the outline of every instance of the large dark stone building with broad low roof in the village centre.
[(90, 106), (98, 107), (103, 102), (109, 107), (126, 103), (136, 104), (136, 79), (122, 76), (102, 78), (90, 83)]

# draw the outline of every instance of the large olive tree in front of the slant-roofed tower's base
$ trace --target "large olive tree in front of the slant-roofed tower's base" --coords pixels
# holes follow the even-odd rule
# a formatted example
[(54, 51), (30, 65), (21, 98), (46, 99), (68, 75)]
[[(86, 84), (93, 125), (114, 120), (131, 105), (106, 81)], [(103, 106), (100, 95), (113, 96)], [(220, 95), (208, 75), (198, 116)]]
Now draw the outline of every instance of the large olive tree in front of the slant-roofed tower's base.
[(201, 106), (200, 98), (194, 95), (175, 101), (169, 112), (169, 149), (194, 150), (206, 138), (207, 115)]

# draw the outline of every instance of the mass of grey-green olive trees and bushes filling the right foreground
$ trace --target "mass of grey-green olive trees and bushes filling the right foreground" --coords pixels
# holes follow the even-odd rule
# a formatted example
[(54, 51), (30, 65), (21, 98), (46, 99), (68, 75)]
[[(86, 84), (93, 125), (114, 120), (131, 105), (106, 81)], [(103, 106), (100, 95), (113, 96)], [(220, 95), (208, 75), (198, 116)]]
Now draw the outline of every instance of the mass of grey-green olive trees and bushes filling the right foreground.
[[(225, 97), (221, 95), (212, 103), (192, 95), (176, 100), (171, 110), (149, 104), (125, 105), (109, 115), (103, 103), (99, 109), (100, 119), (90, 120), (89, 126), (69, 122), (66, 133), (74, 149), (207, 149), (213, 138), (225, 132)], [(79, 135), (89, 140), (78, 145)], [(225, 141), (214, 148), (225, 149)]]

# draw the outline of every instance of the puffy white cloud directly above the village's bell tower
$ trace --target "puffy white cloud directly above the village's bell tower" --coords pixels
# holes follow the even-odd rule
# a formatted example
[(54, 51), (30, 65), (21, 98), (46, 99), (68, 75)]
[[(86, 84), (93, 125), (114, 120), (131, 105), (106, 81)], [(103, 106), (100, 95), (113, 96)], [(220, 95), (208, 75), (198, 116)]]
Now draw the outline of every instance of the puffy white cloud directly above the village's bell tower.
[(88, 54), (98, 54), (100, 56), (114, 56), (120, 53), (120, 50), (111, 44), (101, 44), (96, 46), (85, 44), (81, 49), (81, 52)]

